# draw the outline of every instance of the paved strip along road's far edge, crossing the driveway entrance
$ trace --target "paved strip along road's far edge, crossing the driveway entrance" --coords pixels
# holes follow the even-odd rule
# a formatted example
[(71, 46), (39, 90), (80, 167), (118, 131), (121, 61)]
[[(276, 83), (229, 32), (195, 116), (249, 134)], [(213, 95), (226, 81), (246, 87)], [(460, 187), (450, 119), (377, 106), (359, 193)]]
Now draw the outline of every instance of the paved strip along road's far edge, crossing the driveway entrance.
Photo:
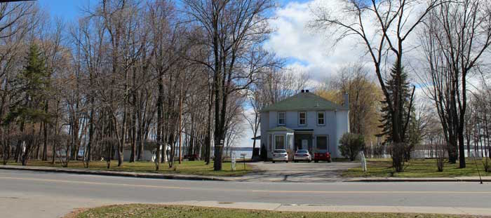
[[(0, 170), (29, 170), (39, 172), (62, 172), (82, 175), (109, 175), (118, 177), (138, 177), (150, 179), (185, 179), (185, 180), (215, 180), (229, 182), (480, 182), (479, 177), (355, 177), (342, 178), (329, 172), (276, 172), (272, 170), (251, 172), (241, 177), (216, 177), (201, 175), (161, 174), (152, 172), (123, 172), (109, 170), (86, 170), (71, 168), (34, 167), (20, 165), (0, 165)], [(482, 177), (483, 182), (491, 182), (491, 177)]]

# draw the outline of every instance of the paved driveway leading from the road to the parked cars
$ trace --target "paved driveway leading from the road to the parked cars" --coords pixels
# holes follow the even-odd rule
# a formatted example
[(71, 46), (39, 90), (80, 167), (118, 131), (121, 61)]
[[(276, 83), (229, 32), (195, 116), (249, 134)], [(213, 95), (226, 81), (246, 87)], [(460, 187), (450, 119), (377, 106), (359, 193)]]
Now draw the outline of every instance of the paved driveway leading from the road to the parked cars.
[(339, 182), (342, 171), (361, 167), (356, 162), (332, 163), (250, 163), (259, 172), (244, 176), (242, 181), (249, 182)]

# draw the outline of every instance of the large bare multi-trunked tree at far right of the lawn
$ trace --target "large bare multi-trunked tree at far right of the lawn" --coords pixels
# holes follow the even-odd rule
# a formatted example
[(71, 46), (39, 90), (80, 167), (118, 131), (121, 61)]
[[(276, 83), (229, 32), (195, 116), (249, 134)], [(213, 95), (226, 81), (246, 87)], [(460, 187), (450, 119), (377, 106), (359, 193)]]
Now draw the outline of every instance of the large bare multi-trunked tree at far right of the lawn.
[[(440, 1), (422, 34), (426, 93), (435, 102), (451, 163), (466, 167), (464, 125), (468, 79), (491, 46), (489, 1)], [(457, 154), (457, 151), (458, 154)]]

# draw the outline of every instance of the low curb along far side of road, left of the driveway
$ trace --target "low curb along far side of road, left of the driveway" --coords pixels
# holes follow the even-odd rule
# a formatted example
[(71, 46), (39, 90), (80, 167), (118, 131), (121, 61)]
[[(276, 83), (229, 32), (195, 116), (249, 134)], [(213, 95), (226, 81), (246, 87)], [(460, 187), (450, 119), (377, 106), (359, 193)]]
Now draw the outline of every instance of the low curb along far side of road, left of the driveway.
[(183, 180), (207, 180), (207, 181), (230, 180), (224, 177), (200, 176), (200, 175), (172, 175), (172, 174), (159, 174), (159, 173), (151, 173), (151, 172), (121, 172), (121, 171), (109, 171), (109, 170), (83, 170), (83, 169), (69, 169), (69, 168), (29, 167), (29, 166), (18, 166), (18, 165), (0, 165), (0, 170), (62, 172), (62, 173), (72, 173), (72, 174), (80, 174), (80, 175), (105, 175), (105, 176), (136, 177), (136, 178), (147, 178), (147, 179), (183, 179)]

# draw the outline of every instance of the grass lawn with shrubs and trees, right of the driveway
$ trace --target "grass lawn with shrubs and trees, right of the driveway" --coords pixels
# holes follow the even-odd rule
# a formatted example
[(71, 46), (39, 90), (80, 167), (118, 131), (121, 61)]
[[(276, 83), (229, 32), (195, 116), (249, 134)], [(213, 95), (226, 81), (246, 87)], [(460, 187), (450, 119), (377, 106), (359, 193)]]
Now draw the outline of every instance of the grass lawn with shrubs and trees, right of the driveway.
[[(405, 163), (404, 172), (394, 172), (391, 167), (391, 159), (367, 159), (367, 172), (359, 168), (351, 168), (343, 172), (343, 177), (471, 177), (478, 176), (476, 163), (468, 159), (466, 168), (459, 169), (459, 163), (445, 163), (443, 172), (438, 172), (436, 168), (436, 160), (413, 160)], [(484, 172), (483, 163), (477, 161), (481, 176), (491, 176), (490, 172)]]

